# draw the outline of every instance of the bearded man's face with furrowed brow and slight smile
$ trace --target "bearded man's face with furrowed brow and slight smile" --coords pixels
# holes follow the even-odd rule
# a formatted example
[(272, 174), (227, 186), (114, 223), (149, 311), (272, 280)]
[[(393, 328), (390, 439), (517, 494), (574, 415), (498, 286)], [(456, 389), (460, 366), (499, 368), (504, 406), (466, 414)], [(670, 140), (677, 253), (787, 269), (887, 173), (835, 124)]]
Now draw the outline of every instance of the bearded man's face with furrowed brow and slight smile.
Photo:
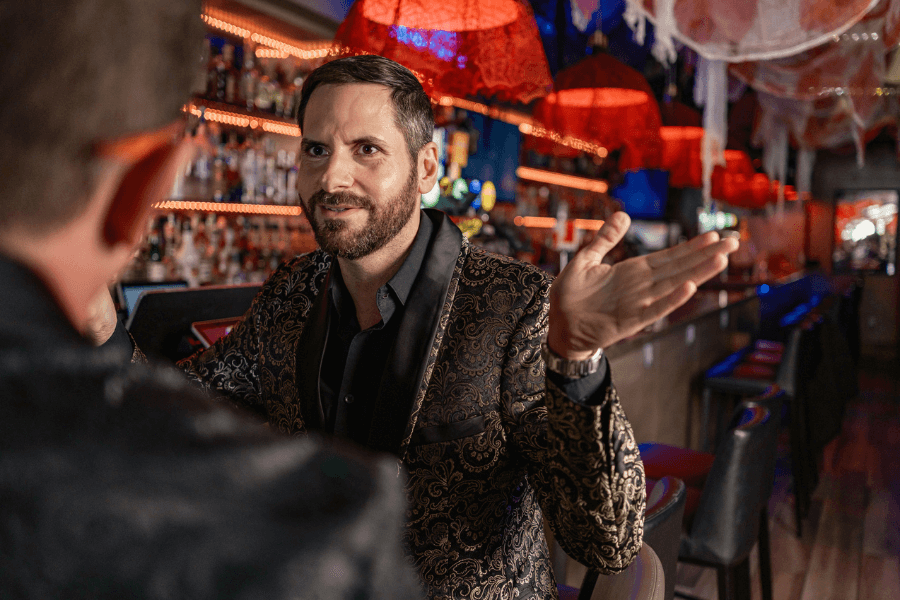
[(326, 252), (356, 260), (386, 246), (419, 205), (418, 168), (387, 87), (324, 85), (303, 119), (299, 192)]

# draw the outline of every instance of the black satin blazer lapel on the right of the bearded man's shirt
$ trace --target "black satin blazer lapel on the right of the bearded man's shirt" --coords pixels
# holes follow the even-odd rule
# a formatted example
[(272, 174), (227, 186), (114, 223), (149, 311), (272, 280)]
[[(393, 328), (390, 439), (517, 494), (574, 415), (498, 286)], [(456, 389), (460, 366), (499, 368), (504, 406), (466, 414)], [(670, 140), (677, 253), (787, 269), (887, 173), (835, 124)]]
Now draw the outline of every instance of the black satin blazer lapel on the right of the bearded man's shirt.
[[(451, 281), (460, 260), (463, 237), (439, 211), (426, 210), (435, 224), (434, 237), (410, 290), (397, 339), (385, 365), (375, 401), (367, 446), (402, 458), (424, 398), (426, 371), (440, 344), (441, 316), (449, 310)], [(445, 320), (444, 320), (445, 321)]]

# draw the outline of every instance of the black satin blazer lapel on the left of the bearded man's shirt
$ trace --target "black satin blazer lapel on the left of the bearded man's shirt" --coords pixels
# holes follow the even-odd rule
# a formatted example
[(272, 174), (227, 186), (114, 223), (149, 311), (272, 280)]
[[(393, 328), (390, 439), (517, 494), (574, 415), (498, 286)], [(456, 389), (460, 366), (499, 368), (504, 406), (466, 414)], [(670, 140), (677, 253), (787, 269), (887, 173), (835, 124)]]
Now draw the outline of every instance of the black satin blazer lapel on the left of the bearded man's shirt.
[(328, 339), (328, 307), (331, 305), (328, 301), (328, 289), (332, 269), (334, 263), (316, 294), (297, 344), (297, 391), (300, 394), (300, 414), (303, 415), (308, 431), (321, 431), (325, 427), (325, 407), (322, 406), (319, 393), (319, 378), (325, 341)]

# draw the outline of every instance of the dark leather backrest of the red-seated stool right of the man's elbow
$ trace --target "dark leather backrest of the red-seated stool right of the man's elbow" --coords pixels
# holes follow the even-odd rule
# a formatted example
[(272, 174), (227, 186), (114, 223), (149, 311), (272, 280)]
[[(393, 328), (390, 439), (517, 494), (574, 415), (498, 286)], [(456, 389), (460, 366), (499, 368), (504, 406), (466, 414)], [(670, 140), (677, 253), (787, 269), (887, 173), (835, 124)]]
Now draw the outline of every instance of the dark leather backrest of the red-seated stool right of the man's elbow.
[(760, 498), (771, 486), (777, 419), (764, 406), (742, 402), (716, 450), (685, 543), (690, 554), (717, 564), (749, 555), (759, 533)]

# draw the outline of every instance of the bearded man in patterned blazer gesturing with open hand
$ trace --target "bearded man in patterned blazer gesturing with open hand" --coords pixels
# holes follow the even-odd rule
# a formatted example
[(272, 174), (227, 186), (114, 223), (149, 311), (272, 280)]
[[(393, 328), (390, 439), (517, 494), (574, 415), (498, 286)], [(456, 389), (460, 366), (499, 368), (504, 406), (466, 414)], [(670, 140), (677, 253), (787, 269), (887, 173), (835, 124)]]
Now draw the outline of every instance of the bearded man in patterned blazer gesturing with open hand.
[(601, 349), (684, 303), (736, 244), (709, 234), (610, 267), (619, 213), (553, 283), (419, 209), (437, 146), (404, 67), (327, 63), (303, 85), (299, 122), (320, 248), (283, 264), (183, 368), (280, 431), (396, 456), (405, 541), (432, 598), (555, 598), (543, 517), (579, 562), (624, 569), (644, 475)]

